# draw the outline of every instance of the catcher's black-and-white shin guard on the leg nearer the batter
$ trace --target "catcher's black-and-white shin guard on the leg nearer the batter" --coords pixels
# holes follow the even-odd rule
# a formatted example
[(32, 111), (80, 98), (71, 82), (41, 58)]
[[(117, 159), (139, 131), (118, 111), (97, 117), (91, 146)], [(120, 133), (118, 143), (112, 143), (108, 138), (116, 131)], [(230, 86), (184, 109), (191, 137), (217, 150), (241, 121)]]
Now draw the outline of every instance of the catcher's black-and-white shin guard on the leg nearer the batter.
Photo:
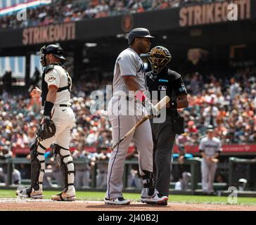
[(63, 148), (62, 146), (59, 146), (57, 144), (54, 145), (56, 160), (64, 176), (64, 185), (65, 188), (68, 188), (68, 186), (74, 185), (75, 167), (73, 163), (73, 158), (70, 155), (70, 150), (68, 148)]

